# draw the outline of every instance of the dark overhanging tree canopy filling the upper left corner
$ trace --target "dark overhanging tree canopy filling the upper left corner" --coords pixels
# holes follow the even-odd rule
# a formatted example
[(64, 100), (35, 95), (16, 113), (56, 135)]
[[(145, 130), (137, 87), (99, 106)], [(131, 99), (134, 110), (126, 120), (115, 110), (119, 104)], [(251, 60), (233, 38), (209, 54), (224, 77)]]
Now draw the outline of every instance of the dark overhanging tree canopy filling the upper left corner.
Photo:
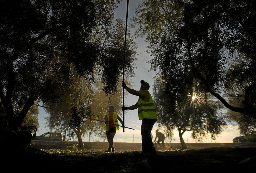
[[(88, 80), (97, 68), (102, 72), (106, 93), (116, 91), (118, 80), (114, 78), (122, 69), (118, 53), (122, 46), (104, 43), (109, 39), (105, 33), (112, 27), (119, 2), (0, 2), (0, 103), (11, 130), (19, 129), (35, 101), (60, 98), (62, 91), (55, 91), (65, 84), (63, 80), (69, 80), (70, 66)], [(132, 74), (136, 58), (132, 50), (128, 52), (126, 70)], [(113, 63), (115, 69), (105, 73)], [(108, 82), (113, 85), (106, 85)]]

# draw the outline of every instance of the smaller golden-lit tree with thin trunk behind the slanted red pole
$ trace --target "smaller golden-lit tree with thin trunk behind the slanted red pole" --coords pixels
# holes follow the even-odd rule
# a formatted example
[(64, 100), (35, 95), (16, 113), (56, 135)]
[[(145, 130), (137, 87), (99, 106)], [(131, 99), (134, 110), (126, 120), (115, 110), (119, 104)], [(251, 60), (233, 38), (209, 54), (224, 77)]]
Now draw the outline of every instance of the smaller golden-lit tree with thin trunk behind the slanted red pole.
[(92, 82), (77, 76), (74, 68), (70, 68), (70, 73), (69, 80), (63, 82), (63, 85), (60, 86), (61, 88), (55, 91), (65, 91), (61, 94), (58, 101), (49, 100), (44, 103), (46, 107), (65, 111), (68, 114), (46, 109), (47, 113), (49, 113), (49, 116), (46, 117), (47, 126), (50, 130), (62, 132), (67, 139), (77, 136), (80, 148), (84, 149), (82, 135), (97, 129), (95, 127), (97, 122), (88, 119), (95, 118), (91, 111), (94, 91), (92, 89)]

